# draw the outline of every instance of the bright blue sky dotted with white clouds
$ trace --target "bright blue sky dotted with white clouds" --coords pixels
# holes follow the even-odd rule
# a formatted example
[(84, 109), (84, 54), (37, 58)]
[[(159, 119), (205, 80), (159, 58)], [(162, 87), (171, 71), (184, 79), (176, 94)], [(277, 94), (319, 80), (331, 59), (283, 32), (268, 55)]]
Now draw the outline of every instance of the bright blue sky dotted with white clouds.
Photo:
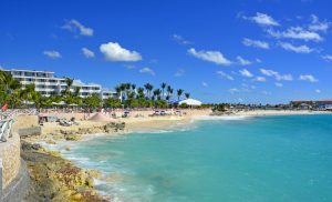
[(204, 102), (332, 99), (326, 0), (2, 0), (0, 67)]

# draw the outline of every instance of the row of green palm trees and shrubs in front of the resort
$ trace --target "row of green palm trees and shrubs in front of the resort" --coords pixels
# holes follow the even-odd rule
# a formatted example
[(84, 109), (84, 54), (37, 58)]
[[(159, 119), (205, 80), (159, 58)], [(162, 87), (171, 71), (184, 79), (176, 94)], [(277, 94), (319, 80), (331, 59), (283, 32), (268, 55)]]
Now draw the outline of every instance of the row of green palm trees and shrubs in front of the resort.
[(22, 85), (10, 73), (0, 70), (0, 104), (8, 104), (9, 108), (51, 108), (60, 107), (56, 103), (63, 101), (68, 105), (86, 108), (168, 108), (174, 99), (190, 98), (190, 93), (185, 93), (183, 89), (174, 91), (165, 82), (160, 83), (160, 88), (154, 88), (151, 83), (143, 87), (120, 83), (115, 87), (116, 98), (102, 100), (98, 94), (81, 98), (81, 88), (73, 88), (73, 79), (65, 78), (65, 83), (61, 95), (43, 97), (35, 91), (34, 84)]

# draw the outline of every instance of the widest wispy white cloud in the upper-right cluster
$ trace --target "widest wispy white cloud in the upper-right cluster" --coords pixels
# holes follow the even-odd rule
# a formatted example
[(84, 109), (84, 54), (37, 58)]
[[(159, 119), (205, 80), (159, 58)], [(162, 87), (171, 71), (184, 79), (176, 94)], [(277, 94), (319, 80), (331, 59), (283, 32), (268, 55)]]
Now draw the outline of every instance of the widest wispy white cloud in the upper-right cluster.
[(277, 39), (288, 38), (288, 39), (299, 39), (299, 40), (315, 41), (315, 42), (323, 40), (323, 38), (319, 33), (314, 31), (304, 30), (301, 27), (291, 27), (286, 31), (281, 31), (281, 32), (269, 29), (267, 30), (267, 32), (271, 37), (274, 37)]

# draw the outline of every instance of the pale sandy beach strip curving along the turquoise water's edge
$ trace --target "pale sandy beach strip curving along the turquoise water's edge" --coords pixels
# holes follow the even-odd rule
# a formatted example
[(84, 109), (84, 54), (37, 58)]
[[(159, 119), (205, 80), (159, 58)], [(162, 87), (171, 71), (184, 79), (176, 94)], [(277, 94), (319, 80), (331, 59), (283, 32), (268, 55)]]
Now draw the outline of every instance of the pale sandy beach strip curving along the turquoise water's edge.
[[(41, 137), (38, 138), (28, 138), (27, 141), (30, 143), (39, 143), (40, 145), (42, 145), (44, 149), (49, 150), (50, 152), (59, 152), (59, 156), (60, 159), (68, 161), (70, 163), (72, 163), (74, 166), (81, 169), (82, 171), (86, 172), (89, 171), (89, 169), (84, 168), (84, 166), (77, 166), (77, 163), (73, 160), (68, 159), (63, 152), (66, 150), (71, 150), (70, 147), (65, 147), (63, 144), (77, 144), (80, 141), (89, 141), (91, 139), (95, 139), (95, 138), (102, 138), (102, 137), (113, 137), (113, 135), (126, 135), (126, 134), (131, 134), (131, 133), (142, 133), (142, 132), (156, 132), (158, 133), (158, 131), (160, 130), (165, 130), (165, 131), (170, 131), (174, 129), (177, 129), (178, 125), (185, 127), (185, 125), (190, 125), (194, 124), (195, 121), (199, 121), (199, 120), (232, 120), (232, 118), (237, 119), (240, 117), (243, 118), (248, 118), (248, 117), (270, 117), (270, 115), (305, 115), (305, 114), (331, 114), (331, 112), (311, 112), (311, 111), (268, 111), (268, 113), (266, 113), (267, 111), (248, 111), (248, 112), (240, 112), (240, 113), (236, 113), (236, 114), (230, 114), (230, 115), (210, 115), (208, 114), (189, 114), (189, 115), (185, 115), (185, 117), (177, 117), (177, 118), (169, 118), (169, 117), (163, 117), (163, 118), (135, 118), (133, 119), (127, 119), (127, 120), (118, 120), (117, 123), (120, 122), (125, 122), (125, 129), (121, 132), (118, 131), (112, 131), (110, 133), (87, 133), (87, 134), (75, 134), (79, 135), (79, 139), (75, 140), (66, 140), (64, 139), (65, 135), (72, 135), (72, 134), (62, 134), (62, 139), (58, 139), (54, 140), (54, 142), (49, 141), (50, 135), (53, 137), (56, 132), (59, 128), (54, 128), (53, 124), (50, 125), (44, 125), (46, 128), (51, 128), (51, 130), (46, 130), (48, 132), (51, 131), (53, 133), (51, 134), (45, 134), (43, 133)], [(80, 122), (81, 124), (84, 123), (89, 123), (89, 122)], [(90, 124), (87, 124), (89, 127), (101, 127), (101, 125), (105, 125), (106, 123), (104, 122), (90, 122)], [(63, 128), (63, 127), (62, 127)], [(70, 131), (70, 130), (69, 130)], [(52, 145), (58, 144), (58, 145), (63, 145), (61, 147), (62, 149), (58, 148), (55, 150), (51, 149), (54, 148)], [(55, 147), (56, 148), (56, 147)], [(56, 154), (58, 155), (58, 154)], [(94, 178), (93, 181), (96, 182), (101, 180), (100, 178)], [(106, 199), (108, 195), (104, 195), (100, 190), (96, 190), (95, 188), (92, 188), (93, 191), (95, 191), (96, 195), (100, 195), (103, 199)]]

